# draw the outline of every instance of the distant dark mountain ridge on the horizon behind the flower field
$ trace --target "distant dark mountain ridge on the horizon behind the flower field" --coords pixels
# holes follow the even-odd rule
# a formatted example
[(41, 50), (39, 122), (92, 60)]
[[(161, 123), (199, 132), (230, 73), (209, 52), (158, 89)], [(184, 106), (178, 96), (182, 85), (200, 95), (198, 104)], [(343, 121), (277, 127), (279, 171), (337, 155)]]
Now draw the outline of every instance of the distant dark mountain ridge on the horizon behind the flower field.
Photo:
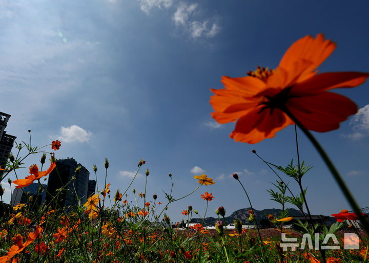
[[(226, 217), (226, 224), (230, 224), (233, 223), (233, 221), (235, 219), (239, 219), (243, 225), (249, 225), (249, 210), (251, 210), (251, 207), (249, 208), (242, 208), (239, 209), (237, 211), (234, 211), (230, 216)], [(296, 210), (294, 208), (289, 208), (289, 216), (299, 216), (302, 215), (301, 211)], [(268, 220), (268, 215), (272, 214), (275, 217), (279, 217), (280, 213), (282, 211), (282, 209), (276, 209), (276, 208), (270, 208), (270, 209), (263, 209), (263, 210), (256, 210), (255, 211), (255, 216), (258, 222), (260, 222), (261, 220)], [(220, 219), (222, 220), (222, 217), (220, 217)], [(204, 222), (207, 225), (214, 225), (215, 221), (217, 221), (218, 218), (215, 217), (206, 217), (204, 218)], [(192, 218), (190, 223), (199, 223), (202, 224), (202, 219), (201, 218)], [(251, 225), (254, 225), (253, 223), (251, 223)], [(260, 225), (260, 223), (259, 223)]]

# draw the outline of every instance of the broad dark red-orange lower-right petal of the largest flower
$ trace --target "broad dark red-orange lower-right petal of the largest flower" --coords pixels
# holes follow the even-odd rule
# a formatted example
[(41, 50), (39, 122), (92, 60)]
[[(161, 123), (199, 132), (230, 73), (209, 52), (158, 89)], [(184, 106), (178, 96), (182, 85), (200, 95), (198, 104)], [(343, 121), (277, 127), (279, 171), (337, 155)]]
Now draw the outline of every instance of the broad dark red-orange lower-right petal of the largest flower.
[(320, 133), (337, 129), (341, 121), (357, 112), (353, 101), (331, 92), (292, 98), (286, 107), (305, 128)]

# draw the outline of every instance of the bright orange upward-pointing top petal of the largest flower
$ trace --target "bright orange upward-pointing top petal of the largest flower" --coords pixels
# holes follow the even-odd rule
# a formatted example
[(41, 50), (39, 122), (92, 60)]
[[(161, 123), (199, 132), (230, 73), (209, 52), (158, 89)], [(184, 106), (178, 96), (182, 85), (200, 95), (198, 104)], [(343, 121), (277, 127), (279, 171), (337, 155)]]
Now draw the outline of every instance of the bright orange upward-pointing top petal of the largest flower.
[(294, 42), (284, 53), (278, 67), (292, 72), (296, 61), (311, 61), (312, 64), (306, 67), (297, 79), (297, 82), (301, 82), (314, 75), (315, 69), (332, 54), (335, 48), (336, 44), (331, 40), (324, 40), (323, 34), (318, 34), (315, 39), (312, 36), (305, 36)]

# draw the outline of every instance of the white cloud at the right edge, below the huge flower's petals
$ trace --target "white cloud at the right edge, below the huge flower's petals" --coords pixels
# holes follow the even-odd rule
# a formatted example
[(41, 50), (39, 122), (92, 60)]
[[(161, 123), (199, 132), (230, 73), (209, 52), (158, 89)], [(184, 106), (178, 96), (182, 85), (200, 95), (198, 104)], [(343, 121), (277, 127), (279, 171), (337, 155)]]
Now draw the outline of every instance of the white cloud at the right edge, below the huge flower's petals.
[(359, 109), (350, 120), (350, 125), (353, 126), (353, 133), (343, 137), (357, 141), (369, 136), (369, 104)]

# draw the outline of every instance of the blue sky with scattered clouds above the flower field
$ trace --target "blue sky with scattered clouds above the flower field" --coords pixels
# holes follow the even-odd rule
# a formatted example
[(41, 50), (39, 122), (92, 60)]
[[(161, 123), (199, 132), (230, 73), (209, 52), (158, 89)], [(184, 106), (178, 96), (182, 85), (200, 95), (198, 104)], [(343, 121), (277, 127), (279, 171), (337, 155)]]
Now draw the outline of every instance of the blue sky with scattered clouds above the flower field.
[[(146, 164), (140, 173), (151, 172), (147, 195), (157, 194), (162, 203), (169, 173), (175, 198), (198, 186), (193, 176), (213, 178), (214, 185), (169, 206), (173, 221), (181, 220), (188, 205), (203, 215), (200, 194), (206, 191), (215, 196), (208, 216), (219, 206), (227, 215), (249, 207), (234, 172), (254, 208), (279, 208), (266, 191), (277, 178), (251, 150), (269, 162), (289, 164), (296, 160), (294, 127), (255, 145), (235, 143), (229, 138), (235, 124), (211, 118), (210, 89), (223, 88), (223, 75), (245, 76), (256, 65), (275, 68), (294, 41), (318, 33), (337, 43), (320, 72), (367, 72), (368, 6), (366, 1), (0, 0), (0, 111), (12, 115), (7, 132), (18, 142), (27, 141), (31, 129), (33, 145), (59, 139), (56, 157), (73, 157), (91, 178), (96, 163), (99, 186), (109, 158), (112, 192), (126, 189), (141, 158)], [(359, 114), (338, 130), (314, 135), (359, 206), (366, 207), (369, 83), (334, 92), (355, 101)], [(299, 143), (301, 160), (314, 165), (303, 178), (312, 213), (350, 209), (302, 133)], [(28, 158), (25, 167), (39, 158)], [(19, 177), (27, 172), (18, 171)], [(144, 191), (145, 177), (133, 187)]]

